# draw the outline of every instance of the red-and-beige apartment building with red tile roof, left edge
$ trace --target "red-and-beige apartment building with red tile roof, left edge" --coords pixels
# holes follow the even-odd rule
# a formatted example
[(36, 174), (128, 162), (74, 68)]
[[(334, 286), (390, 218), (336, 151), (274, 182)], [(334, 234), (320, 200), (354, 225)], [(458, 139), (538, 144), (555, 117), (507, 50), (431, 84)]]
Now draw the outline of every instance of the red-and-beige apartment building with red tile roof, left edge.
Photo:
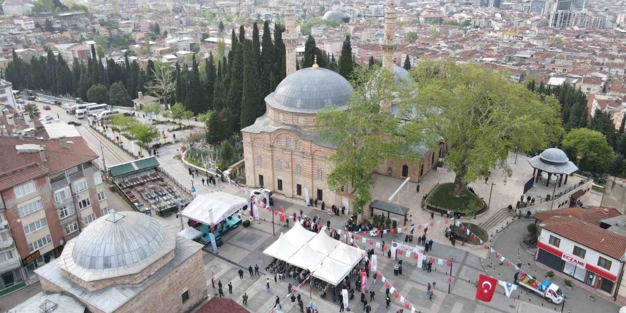
[(80, 137), (0, 137), (0, 295), (108, 213), (98, 158)]

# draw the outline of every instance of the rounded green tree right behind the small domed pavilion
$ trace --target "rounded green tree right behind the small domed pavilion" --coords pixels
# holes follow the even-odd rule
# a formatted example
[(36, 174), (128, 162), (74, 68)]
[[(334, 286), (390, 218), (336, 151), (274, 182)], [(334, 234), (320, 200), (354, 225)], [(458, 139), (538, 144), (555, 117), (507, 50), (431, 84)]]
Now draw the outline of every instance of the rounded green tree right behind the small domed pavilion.
[(598, 175), (606, 173), (613, 162), (613, 148), (600, 131), (576, 128), (563, 137), (563, 150), (570, 160), (577, 160), (578, 168)]

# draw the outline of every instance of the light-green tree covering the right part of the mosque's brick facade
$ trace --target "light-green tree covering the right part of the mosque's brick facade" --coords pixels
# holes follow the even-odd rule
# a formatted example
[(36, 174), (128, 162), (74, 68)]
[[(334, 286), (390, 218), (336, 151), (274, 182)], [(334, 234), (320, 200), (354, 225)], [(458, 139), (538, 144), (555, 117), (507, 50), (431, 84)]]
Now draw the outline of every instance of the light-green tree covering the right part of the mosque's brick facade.
[[(379, 103), (393, 86), (391, 73), (359, 71), (357, 81), (373, 83), (357, 85), (347, 110), (327, 107), (319, 111), (316, 125), (323, 140), (338, 146), (329, 158), (332, 171), (327, 175), (329, 188), (344, 187), (354, 195), (354, 212), (371, 202), (374, 185), (372, 172), (380, 162), (398, 156), (403, 143), (399, 138), (399, 123), (391, 115), (379, 113)], [(394, 134), (381, 136), (381, 134)]]

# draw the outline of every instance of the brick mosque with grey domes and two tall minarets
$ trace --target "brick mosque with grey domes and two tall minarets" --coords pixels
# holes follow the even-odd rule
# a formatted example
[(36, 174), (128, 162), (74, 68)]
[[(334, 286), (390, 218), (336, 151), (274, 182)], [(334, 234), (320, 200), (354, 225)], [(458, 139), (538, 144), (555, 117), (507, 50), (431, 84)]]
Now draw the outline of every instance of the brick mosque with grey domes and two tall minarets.
[[(346, 110), (352, 95), (352, 86), (341, 75), (329, 69), (311, 68), (295, 70), (295, 48), (299, 41), (295, 33), (292, 6), (285, 10), (285, 43), (287, 77), (273, 93), (265, 97), (267, 111), (253, 125), (242, 129), (244, 143), (245, 178), (250, 187), (270, 188), (289, 198), (306, 201), (317, 198), (327, 207), (345, 206), (352, 212), (350, 190), (330, 190), (326, 183), (332, 169), (329, 157), (336, 146), (325, 143), (317, 133), (317, 111), (330, 105)], [(393, 0), (385, 11), (385, 33), (381, 39), (382, 65), (394, 73), (394, 81), (410, 80), (409, 73), (396, 65), (394, 52), (397, 15)], [(394, 113), (391, 99), (382, 101), (381, 112)], [(381, 162), (376, 173), (397, 178), (410, 177), (417, 182), (442, 158), (446, 145), (441, 142), (436, 150), (426, 146), (415, 148), (421, 159), (387, 160)], [(367, 212), (364, 214), (367, 217)]]

